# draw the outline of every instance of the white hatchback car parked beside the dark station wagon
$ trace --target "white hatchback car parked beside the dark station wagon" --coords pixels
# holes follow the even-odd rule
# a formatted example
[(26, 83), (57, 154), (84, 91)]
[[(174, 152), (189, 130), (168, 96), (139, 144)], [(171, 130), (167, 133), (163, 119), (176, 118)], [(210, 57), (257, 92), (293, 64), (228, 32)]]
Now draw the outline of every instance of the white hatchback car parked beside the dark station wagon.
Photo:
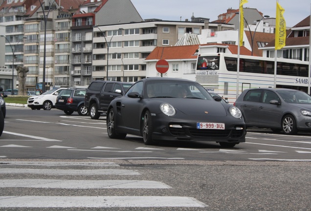
[(67, 88), (51, 89), (44, 92), (42, 95), (29, 97), (27, 105), (32, 110), (40, 110), (41, 108), (44, 110), (51, 110), (52, 107), (55, 107), (57, 95), (63, 89)]

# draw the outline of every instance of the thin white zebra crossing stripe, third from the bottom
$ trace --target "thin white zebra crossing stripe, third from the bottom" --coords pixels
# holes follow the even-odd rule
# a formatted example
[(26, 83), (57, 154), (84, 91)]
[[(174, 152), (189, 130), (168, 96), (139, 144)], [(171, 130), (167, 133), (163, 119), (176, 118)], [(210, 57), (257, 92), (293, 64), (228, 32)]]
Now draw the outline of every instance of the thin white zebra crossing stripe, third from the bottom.
[[(3, 168), (0, 174), (45, 174), (45, 175), (140, 175), (126, 169), (10, 169)], [(1, 204), (1, 203), (0, 203)]]

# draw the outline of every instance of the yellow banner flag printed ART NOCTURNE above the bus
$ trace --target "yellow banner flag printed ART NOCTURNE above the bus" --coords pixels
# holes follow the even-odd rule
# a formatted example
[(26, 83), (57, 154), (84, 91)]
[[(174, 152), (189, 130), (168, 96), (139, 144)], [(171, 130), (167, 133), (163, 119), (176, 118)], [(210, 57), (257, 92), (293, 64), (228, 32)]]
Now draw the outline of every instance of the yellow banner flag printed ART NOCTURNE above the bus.
[(286, 22), (283, 17), (285, 9), (276, 2), (276, 18), (275, 18), (275, 50), (279, 50), (285, 46), (286, 41)]

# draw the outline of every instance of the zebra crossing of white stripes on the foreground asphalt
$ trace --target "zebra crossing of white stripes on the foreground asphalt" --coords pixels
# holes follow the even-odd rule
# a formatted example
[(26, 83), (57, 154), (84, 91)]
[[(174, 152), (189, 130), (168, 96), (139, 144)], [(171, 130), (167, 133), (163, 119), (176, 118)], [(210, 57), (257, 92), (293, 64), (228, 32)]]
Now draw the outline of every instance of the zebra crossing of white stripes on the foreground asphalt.
[(207, 207), (193, 197), (166, 195), (174, 187), (140, 176), (111, 162), (2, 162), (0, 209)]

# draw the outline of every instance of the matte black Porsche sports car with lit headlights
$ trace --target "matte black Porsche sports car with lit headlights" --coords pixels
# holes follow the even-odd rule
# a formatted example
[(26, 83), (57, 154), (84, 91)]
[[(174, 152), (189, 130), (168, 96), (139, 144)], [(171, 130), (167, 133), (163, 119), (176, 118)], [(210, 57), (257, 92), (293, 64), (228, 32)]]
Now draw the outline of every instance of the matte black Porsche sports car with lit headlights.
[(107, 112), (110, 138), (142, 136), (146, 145), (157, 140), (209, 141), (222, 147), (245, 142), (241, 111), (221, 104), (200, 84), (173, 78), (142, 79), (122, 97), (111, 101)]

